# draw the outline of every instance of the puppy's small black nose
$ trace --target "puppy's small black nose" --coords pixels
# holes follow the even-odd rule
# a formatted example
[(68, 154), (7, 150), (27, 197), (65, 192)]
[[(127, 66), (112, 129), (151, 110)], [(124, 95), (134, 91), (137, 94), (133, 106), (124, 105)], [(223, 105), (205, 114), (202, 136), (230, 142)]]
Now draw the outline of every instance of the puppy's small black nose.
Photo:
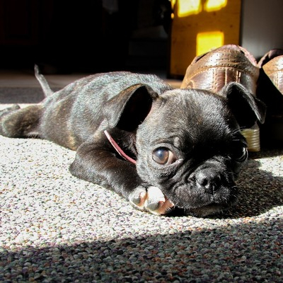
[(197, 185), (204, 188), (207, 193), (213, 194), (219, 190), (221, 177), (217, 172), (197, 172), (195, 174), (195, 180)]

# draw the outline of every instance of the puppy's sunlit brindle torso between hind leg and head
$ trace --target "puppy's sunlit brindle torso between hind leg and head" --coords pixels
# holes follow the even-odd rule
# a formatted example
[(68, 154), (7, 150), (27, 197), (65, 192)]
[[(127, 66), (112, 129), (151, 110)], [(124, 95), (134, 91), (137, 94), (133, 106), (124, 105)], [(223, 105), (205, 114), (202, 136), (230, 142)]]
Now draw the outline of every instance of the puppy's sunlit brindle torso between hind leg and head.
[[(105, 114), (108, 113), (105, 112), (117, 93), (138, 84), (150, 85), (158, 95), (170, 89), (156, 76), (129, 72), (95, 74), (79, 79), (44, 100), (42, 106), (45, 109), (37, 128), (38, 134), (42, 139), (76, 150), (90, 136), (99, 132), (99, 128), (102, 130), (107, 126)], [(118, 104), (119, 101), (114, 101), (111, 107), (117, 108)]]

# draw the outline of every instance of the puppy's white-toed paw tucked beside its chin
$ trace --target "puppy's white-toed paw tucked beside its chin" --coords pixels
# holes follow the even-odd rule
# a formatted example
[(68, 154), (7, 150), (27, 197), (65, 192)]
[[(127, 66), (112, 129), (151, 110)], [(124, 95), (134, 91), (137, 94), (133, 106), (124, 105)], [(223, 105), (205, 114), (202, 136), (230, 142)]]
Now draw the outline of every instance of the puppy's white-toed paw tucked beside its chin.
[(168, 214), (174, 208), (173, 202), (158, 187), (137, 187), (129, 195), (129, 202), (136, 209), (156, 215)]

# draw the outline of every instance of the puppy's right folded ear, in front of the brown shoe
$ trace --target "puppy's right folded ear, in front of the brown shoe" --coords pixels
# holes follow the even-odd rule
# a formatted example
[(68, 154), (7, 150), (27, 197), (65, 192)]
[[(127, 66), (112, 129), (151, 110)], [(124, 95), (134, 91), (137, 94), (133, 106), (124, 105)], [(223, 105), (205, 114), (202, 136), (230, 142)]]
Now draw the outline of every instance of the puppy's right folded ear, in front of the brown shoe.
[(252, 127), (257, 120), (260, 123), (265, 122), (265, 104), (240, 83), (228, 83), (222, 88), (220, 94), (227, 98), (229, 108), (240, 127)]

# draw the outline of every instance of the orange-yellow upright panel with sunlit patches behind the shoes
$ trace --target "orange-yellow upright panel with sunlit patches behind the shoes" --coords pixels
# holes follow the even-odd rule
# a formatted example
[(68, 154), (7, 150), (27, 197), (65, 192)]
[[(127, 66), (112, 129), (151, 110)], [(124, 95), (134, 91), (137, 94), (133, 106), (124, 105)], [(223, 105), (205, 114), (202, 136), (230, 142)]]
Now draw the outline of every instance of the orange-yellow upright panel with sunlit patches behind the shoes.
[[(206, 8), (213, 2), (214, 9)], [(171, 57), (168, 76), (185, 74), (187, 66), (195, 56), (209, 52), (221, 45), (236, 44), (240, 40), (241, 0), (175, 0), (174, 17), (171, 28)], [(216, 4), (223, 3), (223, 6)], [(180, 11), (186, 11), (181, 13)], [(214, 34), (223, 35), (222, 40), (212, 40)], [(207, 34), (207, 44), (198, 40)], [(212, 37), (210, 36), (212, 34)], [(217, 37), (215, 37), (217, 39)], [(201, 45), (201, 52), (198, 46)]]

